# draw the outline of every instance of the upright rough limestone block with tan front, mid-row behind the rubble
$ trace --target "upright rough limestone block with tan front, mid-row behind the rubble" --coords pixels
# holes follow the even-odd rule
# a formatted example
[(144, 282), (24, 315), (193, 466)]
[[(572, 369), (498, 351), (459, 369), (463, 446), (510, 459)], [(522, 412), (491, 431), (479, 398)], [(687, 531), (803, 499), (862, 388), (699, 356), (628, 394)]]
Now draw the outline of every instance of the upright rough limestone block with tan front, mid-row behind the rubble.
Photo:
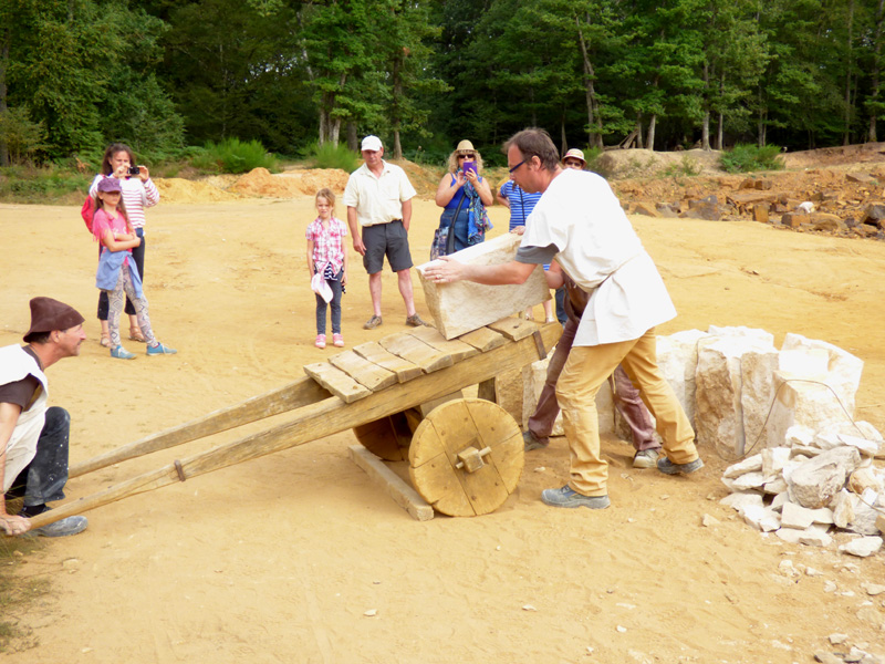
[[(745, 357), (746, 375), (742, 369)], [(749, 443), (752, 443), (768, 413), (770, 396), (763, 403), (760, 398), (750, 396), (750, 393), (771, 394), (770, 369), (767, 367), (773, 366), (775, 357), (774, 346), (767, 345), (766, 341), (756, 336), (720, 336), (700, 346), (695, 421), (697, 438), (701, 445), (714, 445), (723, 456), (743, 454), (748, 443), (745, 403), (750, 408), (749, 433), (753, 438)], [(742, 387), (745, 378), (748, 381), (746, 400)]]

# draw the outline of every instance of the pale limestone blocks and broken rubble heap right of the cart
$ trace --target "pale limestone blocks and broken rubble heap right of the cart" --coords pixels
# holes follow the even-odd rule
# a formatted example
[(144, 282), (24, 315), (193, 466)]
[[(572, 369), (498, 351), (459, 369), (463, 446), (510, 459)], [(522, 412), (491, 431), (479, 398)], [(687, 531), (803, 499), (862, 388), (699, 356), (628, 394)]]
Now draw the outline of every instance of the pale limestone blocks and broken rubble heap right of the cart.
[[(740, 459), (722, 502), (750, 526), (790, 542), (871, 556), (885, 530), (885, 442), (854, 419), (863, 361), (824, 341), (710, 326), (659, 336), (658, 363), (697, 432), (701, 454)], [(523, 417), (534, 408), (546, 361), (523, 371)], [(617, 422), (607, 386), (596, 400), (601, 432)], [(556, 433), (556, 432), (554, 432)], [(705, 452), (706, 450), (706, 452)]]

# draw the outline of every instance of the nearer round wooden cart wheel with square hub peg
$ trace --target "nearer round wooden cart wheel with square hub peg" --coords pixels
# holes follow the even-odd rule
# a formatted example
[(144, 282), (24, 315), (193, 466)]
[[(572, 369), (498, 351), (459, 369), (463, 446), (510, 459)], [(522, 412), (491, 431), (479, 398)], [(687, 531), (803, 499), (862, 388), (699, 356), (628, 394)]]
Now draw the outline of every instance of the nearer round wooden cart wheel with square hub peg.
[(524, 463), (522, 434), (498, 404), (450, 401), (418, 425), (408, 461), (412, 484), (437, 511), (485, 515), (517, 488)]

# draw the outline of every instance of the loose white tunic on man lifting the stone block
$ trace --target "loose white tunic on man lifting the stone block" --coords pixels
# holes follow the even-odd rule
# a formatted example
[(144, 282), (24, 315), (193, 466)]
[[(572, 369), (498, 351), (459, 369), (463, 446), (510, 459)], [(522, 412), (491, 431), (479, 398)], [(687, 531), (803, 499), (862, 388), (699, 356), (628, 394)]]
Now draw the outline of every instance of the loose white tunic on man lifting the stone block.
[(598, 175), (566, 169), (550, 183), (522, 247), (550, 245), (563, 271), (591, 293), (574, 345), (638, 339), (676, 315), (652, 257)]

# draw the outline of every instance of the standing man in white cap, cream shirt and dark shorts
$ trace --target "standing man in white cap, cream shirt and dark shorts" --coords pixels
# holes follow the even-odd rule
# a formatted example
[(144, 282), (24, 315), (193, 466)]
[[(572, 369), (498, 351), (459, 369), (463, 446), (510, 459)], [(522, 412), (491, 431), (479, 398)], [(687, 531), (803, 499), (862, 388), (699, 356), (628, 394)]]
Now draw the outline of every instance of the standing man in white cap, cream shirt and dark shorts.
[(415, 328), (425, 325), (415, 311), (410, 271), (413, 262), (408, 248), (415, 187), (408, 181), (405, 170), (382, 158), (384, 146), (381, 138), (366, 136), (361, 147), (365, 163), (347, 179), (344, 205), (347, 206), (353, 248), (363, 257), (363, 267), (368, 272), (373, 312), (363, 328), (373, 330), (382, 324), (381, 271), (385, 256), (391, 269), (396, 272), (399, 293), (406, 303), (406, 324)]

